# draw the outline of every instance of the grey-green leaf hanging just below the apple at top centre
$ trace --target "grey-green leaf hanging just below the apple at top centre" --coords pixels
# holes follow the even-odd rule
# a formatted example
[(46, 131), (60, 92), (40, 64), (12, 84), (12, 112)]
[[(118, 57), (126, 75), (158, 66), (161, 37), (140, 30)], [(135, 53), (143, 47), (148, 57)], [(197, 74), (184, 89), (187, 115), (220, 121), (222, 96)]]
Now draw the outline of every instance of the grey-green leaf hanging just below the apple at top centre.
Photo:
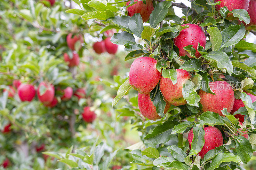
[(141, 33), (143, 31), (143, 22), (139, 13), (134, 14), (129, 20), (129, 28), (134, 35), (141, 38)]

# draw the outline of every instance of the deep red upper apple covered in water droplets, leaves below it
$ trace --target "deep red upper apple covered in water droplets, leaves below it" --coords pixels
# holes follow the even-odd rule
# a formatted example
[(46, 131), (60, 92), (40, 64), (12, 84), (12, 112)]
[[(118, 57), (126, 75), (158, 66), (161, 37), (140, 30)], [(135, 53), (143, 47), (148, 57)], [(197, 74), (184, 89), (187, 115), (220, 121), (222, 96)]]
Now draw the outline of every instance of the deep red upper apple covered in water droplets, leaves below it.
[(184, 50), (183, 47), (192, 45), (196, 49), (196, 58), (199, 58), (201, 54), (197, 51), (198, 44), (202, 47), (206, 45), (206, 36), (204, 31), (196, 24), (183, 24), (182, 26), (188, 25), (189, 27), (180, 31), (180, 34), (173, 38), (173, 43), (179, 48), (179, 56), (187, 55), (189, 58), (193, 58), (188, 54), (188, 51)]

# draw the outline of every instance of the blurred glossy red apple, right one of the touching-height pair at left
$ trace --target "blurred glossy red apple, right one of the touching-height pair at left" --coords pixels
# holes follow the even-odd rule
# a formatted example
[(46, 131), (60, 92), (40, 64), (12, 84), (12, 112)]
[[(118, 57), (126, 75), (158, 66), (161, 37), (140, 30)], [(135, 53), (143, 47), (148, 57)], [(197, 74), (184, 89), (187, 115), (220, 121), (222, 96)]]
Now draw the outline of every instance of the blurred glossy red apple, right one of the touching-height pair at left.
[[(44, 89), (44, 93), (42, 93), (42, 91), (40, 89)], [(40, 93), (41, 91), (41, 93)], [(54, 86), (48, 82), (44, 82), (42, 81), (37, 89), (37, 96), (38, 99), (44, 103), (44, 104), (50, 104), (52, 103), (52, 100), (54, 98), (54, 93), (55, 93), (55, 89)]]

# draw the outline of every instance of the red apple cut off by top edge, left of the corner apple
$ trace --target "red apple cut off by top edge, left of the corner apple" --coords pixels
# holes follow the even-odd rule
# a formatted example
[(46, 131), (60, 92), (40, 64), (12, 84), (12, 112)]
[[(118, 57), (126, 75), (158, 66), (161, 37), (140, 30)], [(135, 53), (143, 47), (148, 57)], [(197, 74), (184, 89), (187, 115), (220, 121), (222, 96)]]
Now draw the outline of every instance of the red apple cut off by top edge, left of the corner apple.
[[(218, 2), (219, 0), (214, 0), (214, 2)], [(249, 8), (249, 2), (250, 0), (220, 0), (219, 5), (215, 5), (215, 8), (217, 11), (220, 10), (220, 7), (226, 6), (229, 11), (232, 11), (233, 9), (244, 9), (245, 11)], [(229, 13), (228, 18), (226, 19), (232, 19), (233, 14)]]

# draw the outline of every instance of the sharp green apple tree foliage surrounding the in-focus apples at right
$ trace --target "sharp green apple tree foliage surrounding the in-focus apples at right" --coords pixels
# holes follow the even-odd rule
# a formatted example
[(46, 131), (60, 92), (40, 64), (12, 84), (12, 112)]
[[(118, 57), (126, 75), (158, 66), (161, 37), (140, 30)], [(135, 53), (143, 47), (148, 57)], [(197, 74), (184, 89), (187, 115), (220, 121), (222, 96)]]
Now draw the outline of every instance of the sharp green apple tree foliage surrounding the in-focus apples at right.
[[(91, 29), (98, 29), (101, 33), (113, 28), (119, 30), (111, 37), (111, 42), (124, 45), (124, 51), (127, 52), (125, 61), (140, 56), (155, 58), (158, 61), (157, 70), (172, 82), (177, 80), (175, 72), (178, 68), (192, 74), (187, 82), (191, 83), (190, 88), (182, 89), (187, 104), (171, 106), (165, 115), (163, 110), (166, 102), (158, 85), (151, 92), (151, 100), (162, 117), (156, 121), (148, 120), (140, 114), (137, 95), (134, 95), (128, 77), (124, 77), (124, 83), (119, 84), (120, 88), (112, 105), (120, 115), (131, 116), (133, 128), (140, 131), (141, 142), (127, 148), (134, 158), (132, 165), (137, 164), (138, 169), (148, 170), (243, 169), (242, 166), (252, 158), (256, 144), (256, 103), (252, 103), (249, 95), (243, 92), (256, 95), (256, 45), (246, 41), (245, 36), (250, 32), (237, 22), (239, 19), (246, 24), (250, 23), (245, 10), (235, 9), (230, 12), (226, 7), (221, 7), (216, 11), (214, 5), (220, 2), (214, 3), (212, 0), (191, 1), (191, 8), (172, 0), (156, 0), (149, 21), (143, 23), (140, 14), (132, 17), (127, 15), (126, 8), (136, 3), (133, 1), (128, 6), (128, 0), (74, 2), (80, 9), (69, 12), (83, 13), (81, 17), (87, 23), (94, 21), (90, 25)], [(182, 9), (183, 17), (175, 15), (174, 6)], [(228, 13), (232, 13), (235, 20), (227, 20)], [(173, 43), (173, 38), (188, 28), (181, 26), (186, 23), (202, 27), (207, 36), (205, 48), (200, 44), (197, 49), (192, 45), (184, 47), (193, 58), (179, 56), (179, 49)], [(195, 57), (196, 50), (201, 57)], [(220, 78), (220, 74), (224, 77)], [(242, 99), (245, 106), (233, 115), (225, 108), (222, 110), (224, 116), (215, 112), (203, 112), (198, 95), (199, 89), (202, 89), (199, 84), (212, 81), (236, 82), (237, 86), (233, 87), (235, 98)], [(202, 90), (214, 94), (209, 86)], [(236, 114), (245, 116), (242, 125), (234, 117)], [(201, 159), (197, 154), (204, 146), (204, 126), (219, 128), (224, 143), (208, 151)], [(194, 139), (189, 148), (184, 134), (192, 128)], [(242, 129), (248, 131), (249, 139), (242, 136)]]

